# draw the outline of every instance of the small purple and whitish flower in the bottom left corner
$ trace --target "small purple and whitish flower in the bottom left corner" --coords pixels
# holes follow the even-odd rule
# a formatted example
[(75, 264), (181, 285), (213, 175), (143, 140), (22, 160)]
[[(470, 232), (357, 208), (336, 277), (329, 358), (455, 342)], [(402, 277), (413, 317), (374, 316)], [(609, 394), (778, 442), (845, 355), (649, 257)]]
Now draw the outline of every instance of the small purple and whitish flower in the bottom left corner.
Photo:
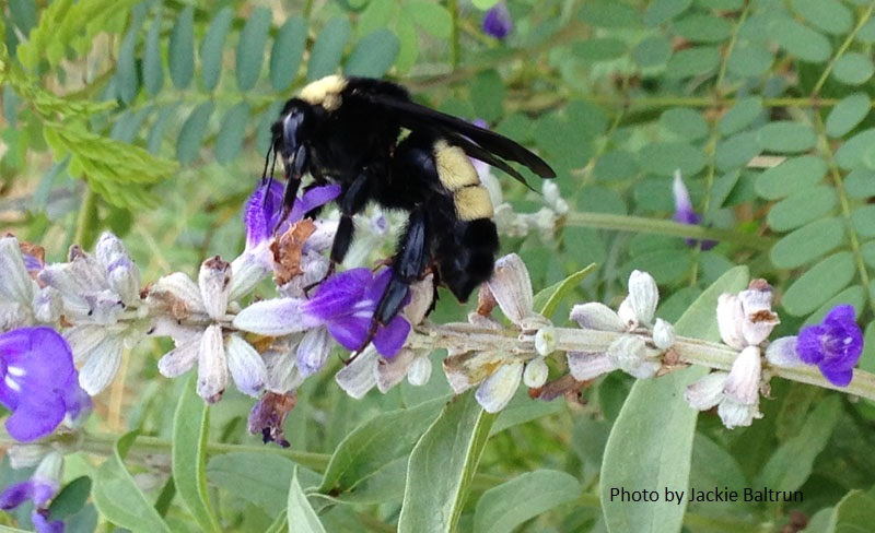
[(48, 453), (30, 479), (15, 483), (0, 494), (0, 509), (9, 511), (27, 500), (34, 502), (31, 521), (37, 533), (62, 533), (63, 522), (50, 520), (48, 506), (60, 489), (63, 455), (57, 451)]

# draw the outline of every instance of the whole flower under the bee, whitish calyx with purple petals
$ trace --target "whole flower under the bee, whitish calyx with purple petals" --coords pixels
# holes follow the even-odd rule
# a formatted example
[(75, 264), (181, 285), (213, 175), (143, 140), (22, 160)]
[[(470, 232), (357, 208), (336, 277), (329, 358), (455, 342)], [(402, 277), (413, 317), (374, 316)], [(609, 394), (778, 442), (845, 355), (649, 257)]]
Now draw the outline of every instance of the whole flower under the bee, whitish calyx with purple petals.
[[(234, 327), (262, 335), (280, 336), (324, 325), (347, 350), (359, 350), (368, 339), (371, 319), (392, 276), (369, 269), (351, 269), (325, 280), (312, 299), (278, 298), (253, 304), (234, 318)], [(409, 295), (408, 295), (409, 299)], [(374, 347), (394, 357), (410, 333), (400, 315), (377, 328)]]

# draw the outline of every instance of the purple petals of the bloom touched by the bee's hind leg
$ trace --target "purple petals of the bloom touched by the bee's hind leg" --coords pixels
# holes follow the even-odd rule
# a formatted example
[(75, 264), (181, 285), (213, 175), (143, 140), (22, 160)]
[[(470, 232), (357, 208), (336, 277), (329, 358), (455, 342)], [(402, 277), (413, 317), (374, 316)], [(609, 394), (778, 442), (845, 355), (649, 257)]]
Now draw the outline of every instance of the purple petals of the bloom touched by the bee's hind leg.
[[(376, 276), (369, 269), (341, 272), (325, 280), (302, 310), (318, 318), (341, 346), (359, 350), (368, 337), (371, 318), (390, 276), (390, 269), (384, 269)], [(408, 333), (410, 322), (396, 316), (376, 330), (374, 347), (384, 357), (393, 357), (404, 346)]]

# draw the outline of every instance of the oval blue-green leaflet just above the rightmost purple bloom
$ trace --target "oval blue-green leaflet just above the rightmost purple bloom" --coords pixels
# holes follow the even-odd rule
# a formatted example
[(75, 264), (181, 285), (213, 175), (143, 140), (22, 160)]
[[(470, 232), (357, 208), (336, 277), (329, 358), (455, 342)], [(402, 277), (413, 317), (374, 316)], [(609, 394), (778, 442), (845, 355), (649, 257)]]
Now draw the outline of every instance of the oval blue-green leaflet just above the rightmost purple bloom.
[(784, 309), (804, 317), (847, 287), (856, 269), (851, 252), (840, 251), (802, 274), (784, 293)]

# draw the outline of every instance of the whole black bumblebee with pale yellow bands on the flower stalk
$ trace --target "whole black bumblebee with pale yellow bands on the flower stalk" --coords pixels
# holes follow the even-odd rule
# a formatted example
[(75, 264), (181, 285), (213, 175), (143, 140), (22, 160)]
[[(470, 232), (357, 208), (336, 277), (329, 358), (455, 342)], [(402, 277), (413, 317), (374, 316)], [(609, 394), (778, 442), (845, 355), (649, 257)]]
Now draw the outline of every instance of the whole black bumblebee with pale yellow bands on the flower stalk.
[(492, 274), (499, 247), (492, 202), (468, 156), (523, 183), (504, 159), (541, 178), (556, 176), (516, 142), (416, 104), (400, 85), (368, 78), (330, 75), (306, 85), (285, 103), (271, 131), (287, 179), (284, 213), (306, 174), (314, 186), (341, 186), (331, 270), (349, 250), (352, 215), (370, 201), (410, 213), (365, 345), (399, 312), (409, 285), (427, 269), (459, 301)]

